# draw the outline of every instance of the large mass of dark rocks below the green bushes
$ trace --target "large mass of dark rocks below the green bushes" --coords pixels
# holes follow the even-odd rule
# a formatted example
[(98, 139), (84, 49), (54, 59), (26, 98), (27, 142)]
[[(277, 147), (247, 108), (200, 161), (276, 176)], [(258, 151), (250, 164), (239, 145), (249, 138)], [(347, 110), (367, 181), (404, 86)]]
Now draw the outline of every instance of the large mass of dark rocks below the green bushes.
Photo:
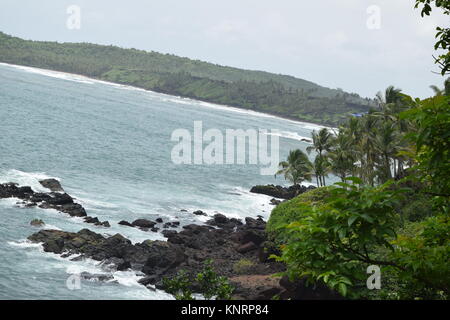
[[(211, 260), (215, 271), (236, 286), (236, 297), (267, 299), (272, 294), (278, 294), (284, 299), (316, 298), (322, 294), (328, 297), (328, 292), (322, 290), (315, 290), (310, 295), (310, 288), (302, 282), (278, 285), (276, 280), (274, 283), (258, 283), (257, 279), (261, 277), (270, 278), (285, 271), (283, 264), (268, 259), (268, 255), (277, 252), (277, 246), (268, 241), (266, 222), (261, 217), (246, 218), (243, 223), (238, 219), (217, 215), (210, 222), (212, 225), (185, 225), (180, 232), (166, 229), (163, 234), (167, 241), (146, 240), (133, 244), (120, 234), (104, 236), (88, 229), (76, 233), (40, 230), (28, 239), (42, 243), (46, 252), (64, 257), (77, 254), (80, 259), (101, 261), (102, 268), (107, 272), (127, 269), (142, 272), (146, 277), (140, 283), (152, 288), (164, 289), (162, 279), (171, 278), (180, 270), (195, 276), (203, 270), (204, 262)], [(121, 224), (124, 223), (131, 225), (121, 221)], [(252, 267), (250, 273), (244, 275), (248, 279), (239, 282), (236, 278), (242, 274), (235, 270), (243, 260), (250, 261)], [(96, 276), (86, 275), (86, 278), (101, 281)], [(106, 277), (103, 281), (109, 280)], [(245, 283), (250, 283), (250, 286)], [(195, 282), (192, 283), (192, 290), (197, 292)]]

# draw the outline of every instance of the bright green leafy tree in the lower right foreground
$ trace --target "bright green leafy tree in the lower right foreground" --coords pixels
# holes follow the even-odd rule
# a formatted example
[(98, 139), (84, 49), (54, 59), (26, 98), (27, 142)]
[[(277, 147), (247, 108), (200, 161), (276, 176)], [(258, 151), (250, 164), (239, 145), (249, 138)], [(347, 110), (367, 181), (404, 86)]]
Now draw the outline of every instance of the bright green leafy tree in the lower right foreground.
[[(393, 182), (377, 187), (336, 183), (319, 204), (303, 205), (301, 217), (285, 226), (281, 256), (291, 279), (323, 282), (343, 296), (359, 298), (370, 265), (394, 274), (406, 292), (399, 298), (443, 298), (449, 294), (448, 215), (414, 225), (418, 232), (398, 234), (396, 211), (405, 189)], [(292, 201), (292, 200), (291, 200)], [(402, 231), (402, 233), (404, 233)]]

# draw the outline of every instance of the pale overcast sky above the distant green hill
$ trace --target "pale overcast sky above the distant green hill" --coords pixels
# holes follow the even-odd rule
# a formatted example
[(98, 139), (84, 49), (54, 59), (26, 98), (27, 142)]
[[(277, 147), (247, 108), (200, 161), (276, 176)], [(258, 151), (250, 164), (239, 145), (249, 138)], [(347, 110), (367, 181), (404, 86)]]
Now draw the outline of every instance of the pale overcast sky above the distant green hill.
[[(414, 0), (1, 0), (0, 30), (32, 40), (114, 44), (289, 74), (373, 97), (431, 95), (435, 27)], [(67, 8), (81, 9), (68, 29)], [(372, 7), (367, 12), (368, 8)], [(380, 10), (380, 28), (377, 26)], [(372, 28), (368, 28), (369, 25)]]

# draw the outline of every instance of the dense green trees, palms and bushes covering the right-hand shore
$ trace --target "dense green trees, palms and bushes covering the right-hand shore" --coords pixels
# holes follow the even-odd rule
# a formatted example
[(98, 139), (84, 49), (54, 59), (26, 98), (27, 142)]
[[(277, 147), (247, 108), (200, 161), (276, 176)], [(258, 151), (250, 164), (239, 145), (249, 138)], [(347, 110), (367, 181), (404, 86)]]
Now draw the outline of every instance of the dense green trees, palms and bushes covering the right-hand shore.
[[(350, 298), (449, 298), (449, 82), (425, 100), (389, 87), (377, 110), (349, 119), (335, 135), (314, 133), (321, 172), (300, 150), (280, 163), (292, 182), (321, 181), (280, 204), (267, 224), (281, 249), (275, 258), (291, 278), (324, 282)], [(324, 187), (327, 172), (342, 182)], [(382, 277), (374, 291), (366, 287), (372, 265)]]

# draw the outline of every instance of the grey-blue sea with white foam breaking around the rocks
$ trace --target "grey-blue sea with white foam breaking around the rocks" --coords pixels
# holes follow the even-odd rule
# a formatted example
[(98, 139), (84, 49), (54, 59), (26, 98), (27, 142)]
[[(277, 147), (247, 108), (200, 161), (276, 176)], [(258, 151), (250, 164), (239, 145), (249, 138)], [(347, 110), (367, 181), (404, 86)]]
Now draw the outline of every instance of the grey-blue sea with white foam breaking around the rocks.
[[(251, 194), (255, 184), (285, 184), (260, 175), (258, 165), (176, 165), (172, 132), (204, 129), (277, 129), (279, 154), (305, 150), (302, 137), (319, 126), (110, 84), (82, 76), (0, 64), (0, 182), (48, 191), (38, 180), (59, 179), (89, 215), (111, 228), (83, 223), (54, 210), (20, 208), (0, 200), (0, 299), (171, 299), (137, 283), (141, 275), (114, 273), (114, 282), (82, 281), (70, 290), (71, 275), (104, 273), (96, 262), (73, 262), (43, 252), (26, 238), (46, 228), (105, 235), (121, 233), (133, 242), (164, 239), (117, 224), (136, 218), (202, 223), (194, 210), (244, 218), (267, 218), (270, 197)], [(333, 180), (333, 179), (331, 179)], [(189, 212), (181, 212), (182, 209)]]

